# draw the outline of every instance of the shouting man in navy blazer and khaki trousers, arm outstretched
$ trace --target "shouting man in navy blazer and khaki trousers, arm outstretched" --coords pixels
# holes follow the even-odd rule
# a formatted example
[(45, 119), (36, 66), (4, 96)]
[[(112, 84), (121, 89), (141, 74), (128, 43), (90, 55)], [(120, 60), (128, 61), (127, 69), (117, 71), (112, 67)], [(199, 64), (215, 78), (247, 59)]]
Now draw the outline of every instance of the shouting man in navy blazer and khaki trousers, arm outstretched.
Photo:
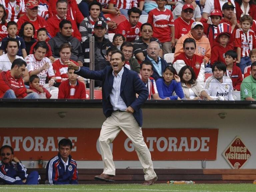
[[(102, 81), (103, 113), (107, 119), (102, 125), (99, 143), (104, 170), (101, 175), (94, 178), (100, 181), (114, 182), (115, 165), (110, 143), (122, 130), (134, 144), (142, 164), (145, 173), (143, 185), (152, 185), (157, 180), (157, 176), (141, 130), (141, 106), (148, 98), (148, 89), (136, 72), (124, 67), (124, 62), (123, 53), (117, 50), (111, 55), (111, 66), (107, 66), (101, 71), (80, 68), (72, 62), (68, 65), (82, 77)], [(138, 98), (136, 98), (136, 93), (139, 95)]]

